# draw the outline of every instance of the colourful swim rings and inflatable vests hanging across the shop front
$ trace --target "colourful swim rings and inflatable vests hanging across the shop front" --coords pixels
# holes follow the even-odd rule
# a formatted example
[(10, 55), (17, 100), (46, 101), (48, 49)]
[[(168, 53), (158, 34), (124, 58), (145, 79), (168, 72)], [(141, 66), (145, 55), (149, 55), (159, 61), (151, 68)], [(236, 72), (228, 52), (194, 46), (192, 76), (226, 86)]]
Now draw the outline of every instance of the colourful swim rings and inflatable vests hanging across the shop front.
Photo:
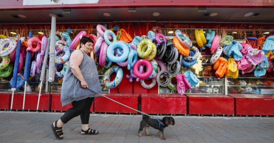
[[(160, 92), (181, 95), (185, 93), (223, 94), (223, 82), (221, 83), (218, 78), (223, 80), (224, 75), (228, 77), (226, 80), (229, 86), (225, 88), (228, 88), (230, 93), (261, 94), (254, 85), (273, 85), (273, 80), (266, 82), (258, 78), (245, 81), (243, 78), (273, 77), (274, 35), (272, 33), (258, 38), (237, 35), (237, 37), (234, 36), (234, 40), (233, 36), (225, 35), (227, 32), (220, 29), (214, 31), (196, 29), (187, 33), (189, 29), (184, 27), (176, 26), (177, 29), (174, 29), (165, 25), (162, 27), (162, 32), (161, 25), (148, 24), (147, 29), (150, 31), (143, 29), (135, 31), (130, 27), (121, 27), (122, 24), (110, 24), (110, 27), (98, 24), (96, 31), (92, 28), (85, 28), (87, 32), (74, 29), (74, 35), (72, 29), (64, 31), (62, 27), (62, 30), (57, 31), (55, 35), (55, 77), (59, 78), (58, 81), (62, 81), (71, 52), (80, 48), (80, 39), (87, 36), (94, 42), (93, 49), (89, 53), (90, 57), (98, 69), (101, 68), (98, 74), (104, 74), (103, 79), (100, 78), (103, 89), (113, 89), (119, 86), (122, 80), (128, 79), (132, 82), (136, 78), (136, 82), (140, 81), (142, 87), (148, 91), (157, 82), (159, 86), (166, 87), (161, 88)], [(167, 29), (175, 31), (174, 34), (166, 33)], [(97, 36), (92, 32), (96, 32)], [(138, 33), (140, 35), (136, 35)], [(147, 34), (143, 35), (143, 33)], [(72, 39), (73, 36), (75, 37)], [(246, 42), (239, 42), (239, 37), (246, 39)], [(46, 34), (34, 35), (20, 42), (20, 53), (17, 57), (14, 49), (18, 44), (16, 40), (20, 38), (19, 35), (15, 39), (5, 35), (0, 35), (0, 38), (0, 78), (8, 78), (11, 75), (17, 57), (19, 60), (16, 63), (18, 66), (16, 70), (22, 72), (26, 53), (30, 51), (28, 54), (31, 56), (28, 60), (31, 68), (28, 75), (33, 77), (31, 81), (34, 82), (34, 77), (41, 73), (44, 57), (48, 57), (46, 52), (49, 50), (46, 51), (46, 48), (49, 39)], [(197, 43), (192, 43), (194, 41)], [(129, 70), (129, 74), (125, 76), (127, 79), (123, 79), (125, 71), (122, 68)], [(116, 77), (110, 81), (113, 73), (116, 73)], [(23, 83), (21, 78), (18, 78), (18, 81)], [(19, 88), (23, 86), (20, 83), (17, 86)], [(232, 87), (232, 85), (239, 85), (239, 87)], [(27, 84), (26, 89), (29, 90), (29, 87)], [(52, 89), (56, 90), (56, 87)]]

